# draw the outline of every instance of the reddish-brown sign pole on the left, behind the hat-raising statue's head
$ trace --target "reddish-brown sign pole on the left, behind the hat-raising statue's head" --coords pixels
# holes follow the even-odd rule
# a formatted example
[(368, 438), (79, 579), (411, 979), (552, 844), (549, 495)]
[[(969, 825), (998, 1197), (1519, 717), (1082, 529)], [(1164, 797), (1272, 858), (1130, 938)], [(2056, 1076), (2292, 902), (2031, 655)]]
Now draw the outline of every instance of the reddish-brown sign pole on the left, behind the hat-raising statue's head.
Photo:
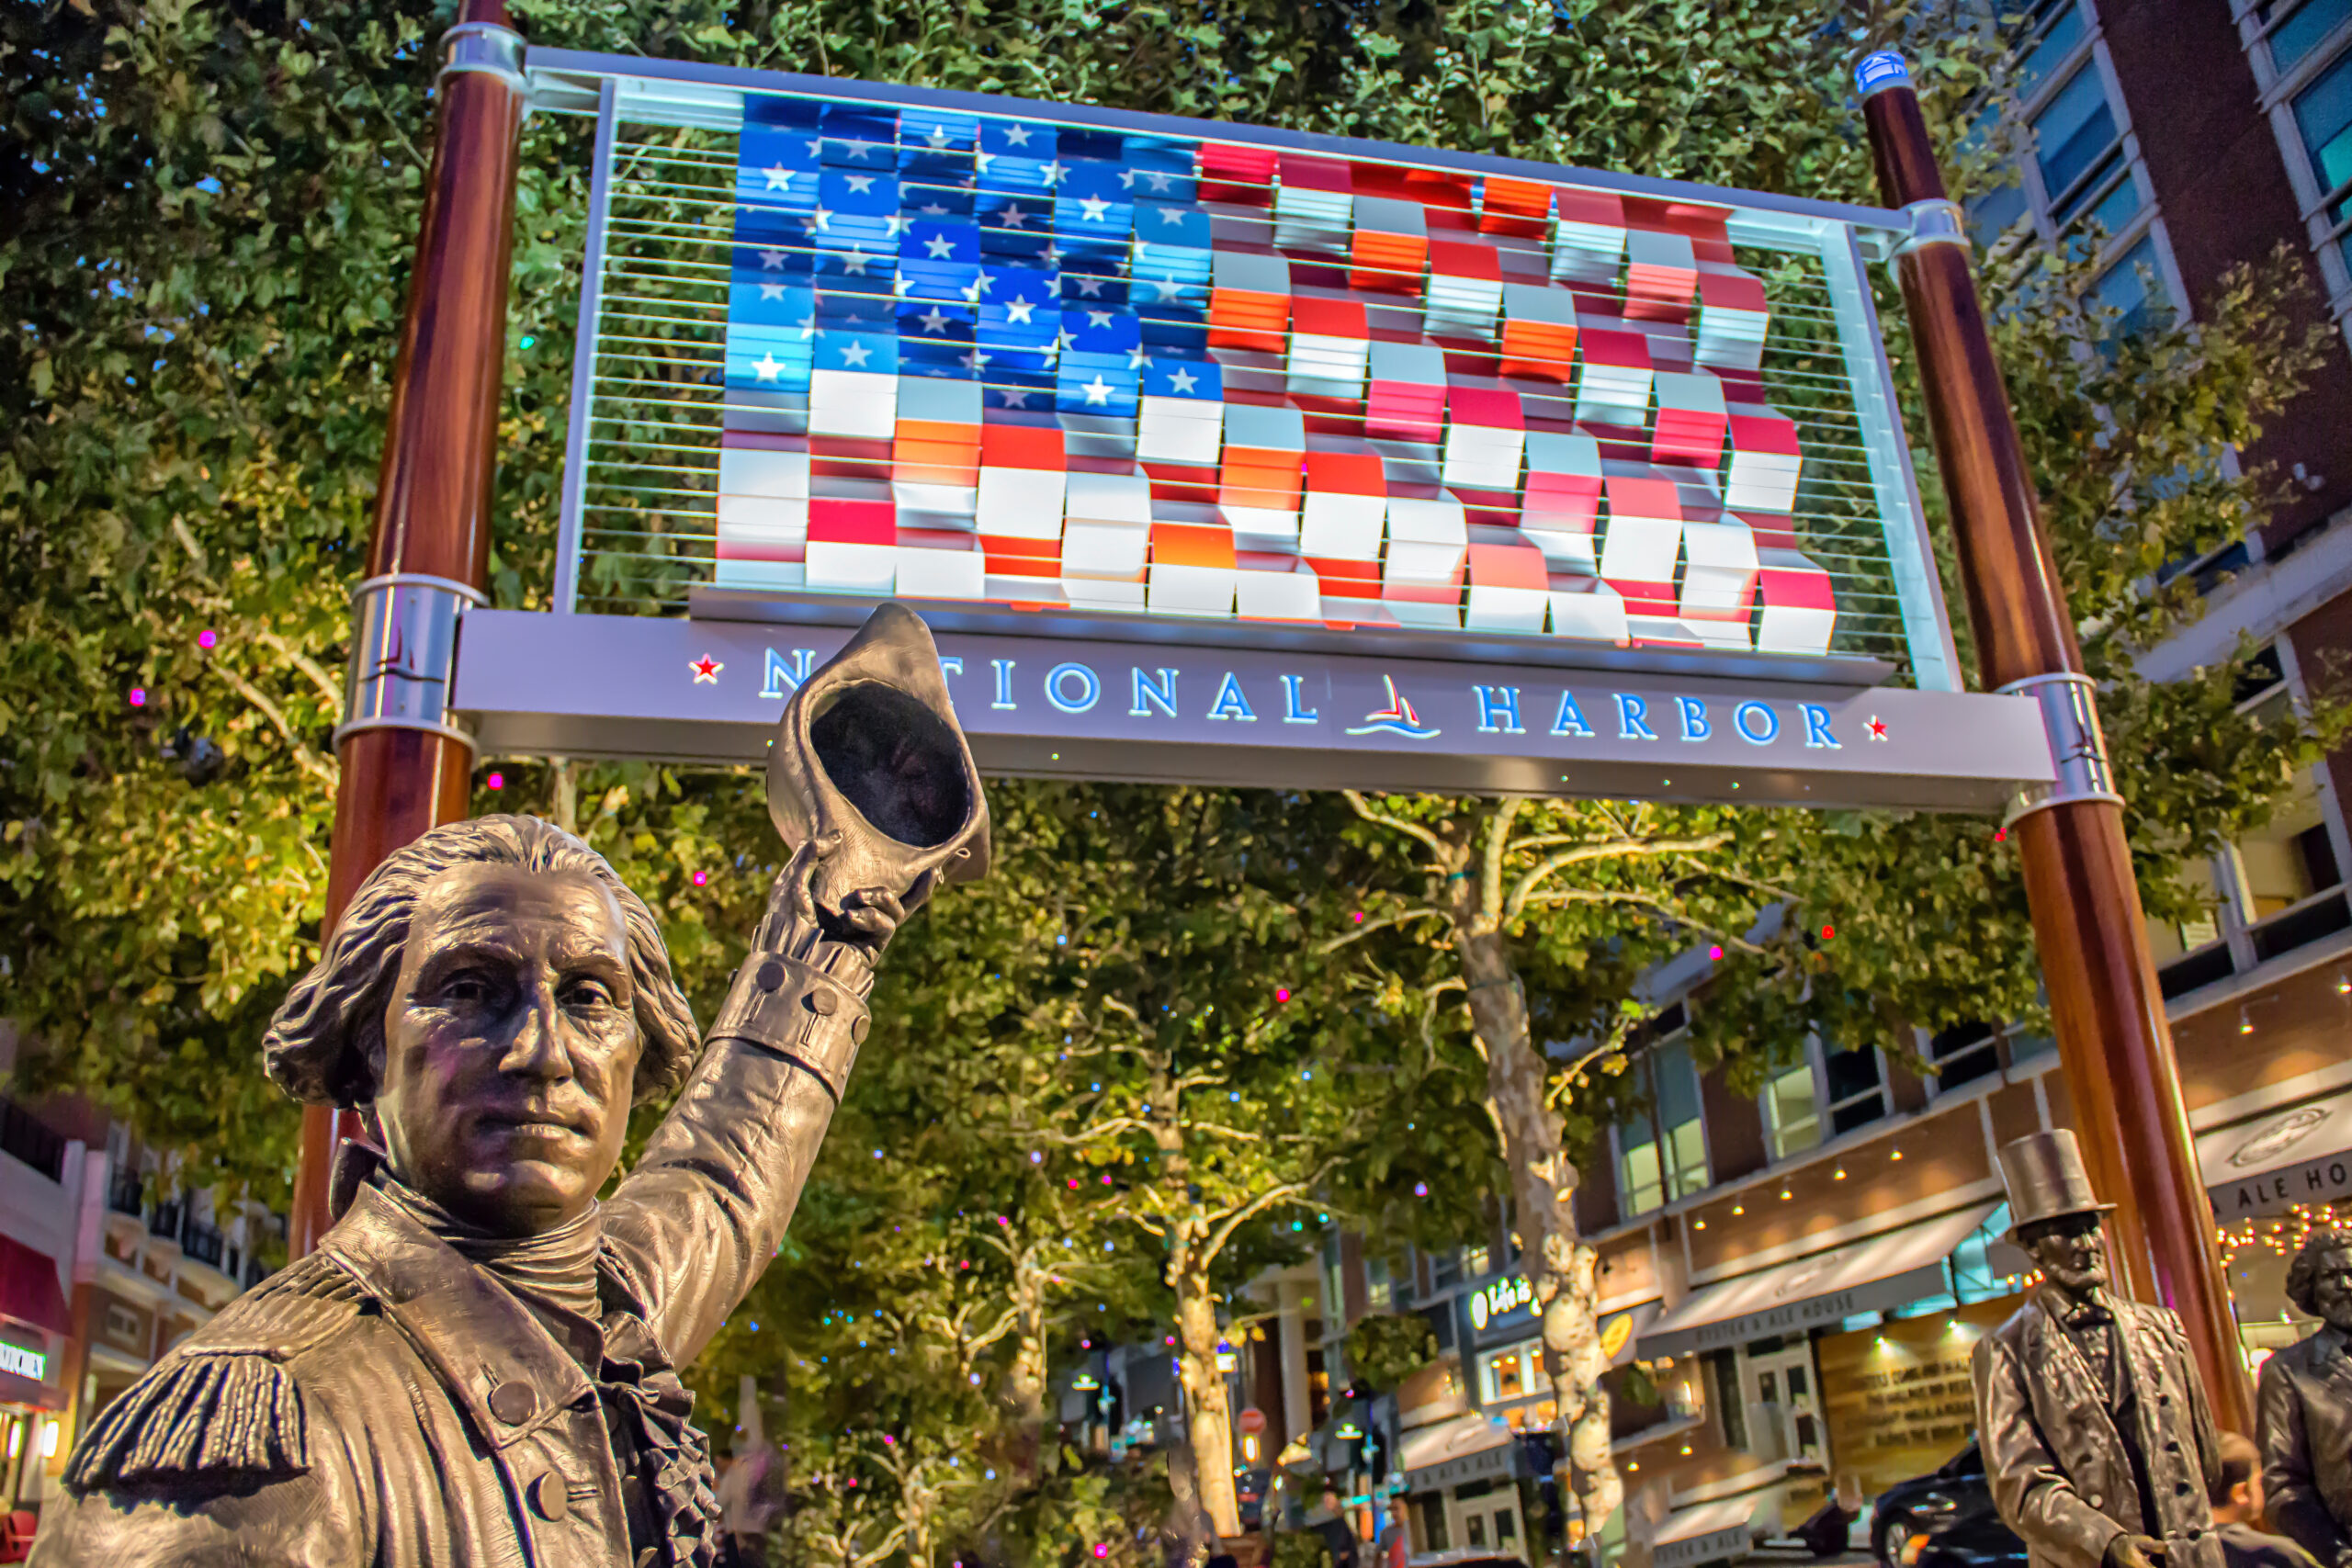
[[(489, 576), (489, 484), (506, 362), (506, 284), (522, 129), (522, 38), (503, 0), (466, 0), (442, 42), (440, 136), (426, 176), (409, 315), (393, 374), (367, 578), (350, 604), (350, 684), (327, 929), (386, 856), (466, 816), (473, 745), (447, 712), (459, 614)], [(289, 1246), (327, 1232), (327, 1173), (350, 1112), (303, 1112)]]

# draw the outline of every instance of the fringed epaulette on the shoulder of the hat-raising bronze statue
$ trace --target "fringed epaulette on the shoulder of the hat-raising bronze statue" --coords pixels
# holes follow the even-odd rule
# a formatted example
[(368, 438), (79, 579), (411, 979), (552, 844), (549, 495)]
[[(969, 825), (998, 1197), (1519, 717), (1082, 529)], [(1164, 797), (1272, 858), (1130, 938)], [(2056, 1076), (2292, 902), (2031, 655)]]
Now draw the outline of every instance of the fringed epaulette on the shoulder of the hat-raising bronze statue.
[(310, 1253), (221, 1307), (75, 1443), (66, 1486), (219, 1486), (310, 1467), (287, 1361), (358, 1316), (358, 1281)]

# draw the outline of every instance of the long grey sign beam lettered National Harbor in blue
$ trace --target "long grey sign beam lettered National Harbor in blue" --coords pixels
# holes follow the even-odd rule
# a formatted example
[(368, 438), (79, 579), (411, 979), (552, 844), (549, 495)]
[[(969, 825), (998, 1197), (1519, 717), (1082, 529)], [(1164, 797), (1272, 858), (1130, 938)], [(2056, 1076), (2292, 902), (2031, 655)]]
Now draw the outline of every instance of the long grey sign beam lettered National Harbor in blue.
[[(470, 611), (485, 752), (757, 762), (849, 630)], [(941, 632), (981, 769), (1265, 788), (1992, 809), (2051, 778), (2027, 698)]]

